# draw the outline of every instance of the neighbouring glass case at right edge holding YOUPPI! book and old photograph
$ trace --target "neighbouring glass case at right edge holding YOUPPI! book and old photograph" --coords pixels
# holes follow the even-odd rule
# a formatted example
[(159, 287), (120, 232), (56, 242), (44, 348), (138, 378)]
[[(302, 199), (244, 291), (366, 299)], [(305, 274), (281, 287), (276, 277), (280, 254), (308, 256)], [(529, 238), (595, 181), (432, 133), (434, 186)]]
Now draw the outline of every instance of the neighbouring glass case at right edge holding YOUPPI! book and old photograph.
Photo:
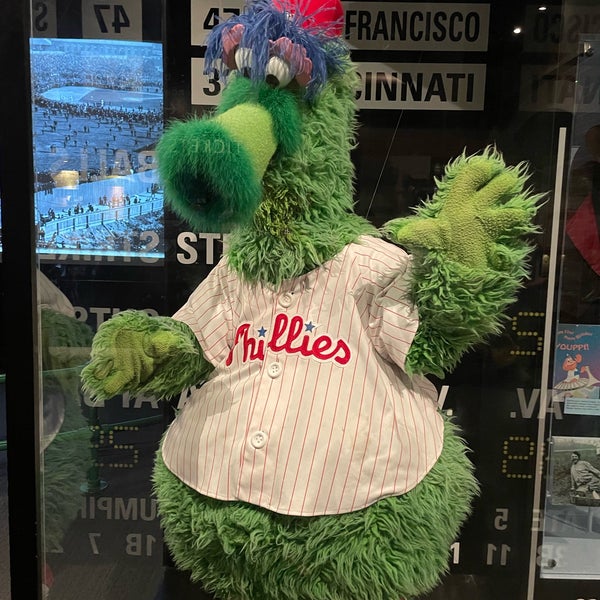
[(565, 195), (541, 577), (599, 580), (600, 36), (579, 39)]

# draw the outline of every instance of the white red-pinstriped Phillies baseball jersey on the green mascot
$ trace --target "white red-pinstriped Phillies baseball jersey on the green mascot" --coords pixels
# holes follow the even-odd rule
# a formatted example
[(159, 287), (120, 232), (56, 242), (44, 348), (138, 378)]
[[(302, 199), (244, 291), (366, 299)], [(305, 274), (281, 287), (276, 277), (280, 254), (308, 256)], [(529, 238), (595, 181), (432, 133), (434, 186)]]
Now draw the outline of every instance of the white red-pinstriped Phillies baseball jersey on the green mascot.
[(215, 369), (162, 447), (202, 494), (290, 515), (414, 488), (442, 449), (434, 386), (403, 372), (418, 327), (410, 257), (363, 236), (278, 289), (222, 259), (174, 315)]

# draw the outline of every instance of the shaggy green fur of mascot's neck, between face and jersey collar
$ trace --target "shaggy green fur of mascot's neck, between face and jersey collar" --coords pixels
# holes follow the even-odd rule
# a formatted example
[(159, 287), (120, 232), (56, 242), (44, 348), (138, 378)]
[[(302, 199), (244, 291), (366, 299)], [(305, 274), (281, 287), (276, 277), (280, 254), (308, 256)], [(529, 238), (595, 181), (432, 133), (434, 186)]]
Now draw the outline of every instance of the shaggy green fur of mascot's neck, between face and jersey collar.
[(331, 79), (302, 112), (293, 154), (274, 157), (254, 220), (235, 229), (227, 260), (242, 279), (278, 285), (331, 260), (362, 234), (379, 235), (353, 212), (356, 73)]

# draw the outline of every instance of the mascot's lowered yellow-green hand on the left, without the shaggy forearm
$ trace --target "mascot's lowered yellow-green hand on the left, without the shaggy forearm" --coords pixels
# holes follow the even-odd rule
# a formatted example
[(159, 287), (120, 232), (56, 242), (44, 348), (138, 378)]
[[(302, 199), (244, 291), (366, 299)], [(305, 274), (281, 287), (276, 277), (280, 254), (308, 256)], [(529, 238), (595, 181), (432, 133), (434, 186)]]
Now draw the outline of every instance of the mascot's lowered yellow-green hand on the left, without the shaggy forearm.
[(140, 311), (124, 311), (103, 323), (92, 342), (91, 361), (83, 368), (84, 391), (104, 400), (139, 391), (178, 348), (176, 332)]

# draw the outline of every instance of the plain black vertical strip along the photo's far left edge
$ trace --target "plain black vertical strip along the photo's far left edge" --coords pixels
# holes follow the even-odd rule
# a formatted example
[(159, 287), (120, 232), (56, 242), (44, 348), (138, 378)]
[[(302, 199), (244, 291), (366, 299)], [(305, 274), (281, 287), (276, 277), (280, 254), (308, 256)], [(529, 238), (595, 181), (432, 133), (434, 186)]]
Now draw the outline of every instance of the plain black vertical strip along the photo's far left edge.
[[(2, 12), (0, 80), (11, 84), (0, 100), (0, 597), (10, 600), (40, 598), (36, 422), (40, 395), (32, 352), (37, 321), (31, 293), (35, 255), (29, 5), (9, 0)], [(15, 565), (21, 581), (11, 572)]]

